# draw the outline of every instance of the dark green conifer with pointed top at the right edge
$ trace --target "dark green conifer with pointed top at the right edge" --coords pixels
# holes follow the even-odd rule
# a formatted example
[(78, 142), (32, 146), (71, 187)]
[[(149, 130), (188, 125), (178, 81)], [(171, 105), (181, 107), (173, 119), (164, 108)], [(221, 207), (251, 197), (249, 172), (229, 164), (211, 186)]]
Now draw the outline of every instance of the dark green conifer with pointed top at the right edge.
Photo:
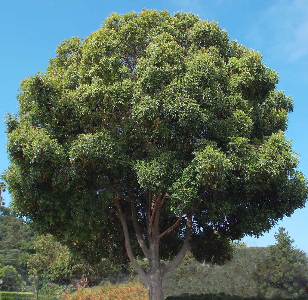
[(308, 258), (302, 250), (295, 249), (294, 240), (279, 227), (275, 234), (277, 243), (269, 247), (265, 264), (258, 266), (258, 292), (266, 297), (297, 298), (306, 294)]

